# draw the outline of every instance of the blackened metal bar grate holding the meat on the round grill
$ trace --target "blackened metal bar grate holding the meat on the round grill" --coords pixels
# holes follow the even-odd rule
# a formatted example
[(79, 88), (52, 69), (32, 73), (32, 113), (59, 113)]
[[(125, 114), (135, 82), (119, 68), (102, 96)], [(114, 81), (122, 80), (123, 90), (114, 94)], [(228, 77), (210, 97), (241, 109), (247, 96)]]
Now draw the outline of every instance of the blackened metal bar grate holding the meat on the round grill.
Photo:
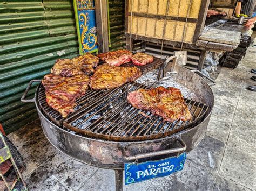
[[(161, 65), (161, 62), (159, 63)], [(142, 68), (144, 73), (154, 69)], [(186, 98), (186, 104), (192, 115), (191, 120), (165, 122), (161, 117), (133, 108), (127, 102), (127, 93), (139, 88), (149, 87), (129, 82), (110, 90), (88, 90), (85, 96), (76, 100), (75, 112), (65, 119), (47, 105), (42, 85), (38, 91), (38, 103), (44, 114), (64, 129), (93, 138), (116, 141), (149, 140), (172, 135), (196, 125), (203, 119), (208, 109), (204, 103)]]

